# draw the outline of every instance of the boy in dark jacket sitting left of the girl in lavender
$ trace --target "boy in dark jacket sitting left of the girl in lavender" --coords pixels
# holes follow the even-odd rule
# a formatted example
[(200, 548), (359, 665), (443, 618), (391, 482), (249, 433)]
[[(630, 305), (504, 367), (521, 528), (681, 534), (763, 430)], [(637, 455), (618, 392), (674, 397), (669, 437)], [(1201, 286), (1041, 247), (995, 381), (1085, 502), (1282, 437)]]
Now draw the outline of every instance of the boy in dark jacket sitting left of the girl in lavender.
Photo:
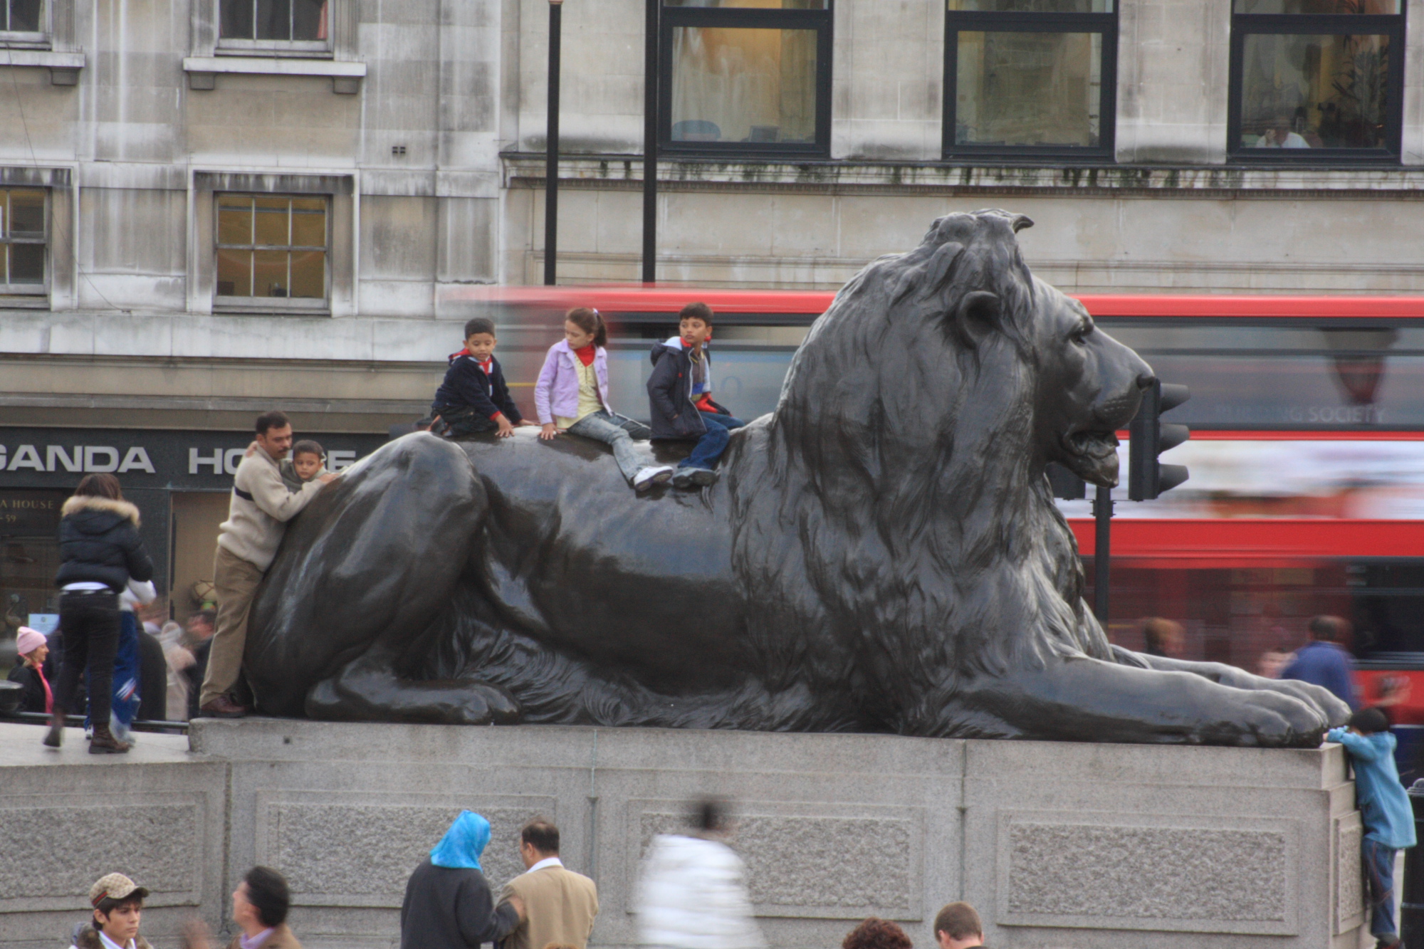
[(451, 436), (497, 432), (503, 439), (514, 435), (515, 425), (534, 425), (510, 398), (494, 345), (494, 321), (476, 316), (464, 325), (464, 349), (450, 356), (430, 405), (430, 415), (437, 416), (431, 430)]

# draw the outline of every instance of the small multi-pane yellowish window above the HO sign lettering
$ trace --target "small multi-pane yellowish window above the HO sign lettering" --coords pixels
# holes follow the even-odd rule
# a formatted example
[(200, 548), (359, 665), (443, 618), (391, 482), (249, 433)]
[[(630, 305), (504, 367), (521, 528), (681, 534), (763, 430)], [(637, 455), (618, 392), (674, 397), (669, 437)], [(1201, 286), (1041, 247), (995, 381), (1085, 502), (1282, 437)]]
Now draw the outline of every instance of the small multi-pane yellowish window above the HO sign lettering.
[(328, 209), (323, 195), (219, 194), (216, 302), (325, 306)]

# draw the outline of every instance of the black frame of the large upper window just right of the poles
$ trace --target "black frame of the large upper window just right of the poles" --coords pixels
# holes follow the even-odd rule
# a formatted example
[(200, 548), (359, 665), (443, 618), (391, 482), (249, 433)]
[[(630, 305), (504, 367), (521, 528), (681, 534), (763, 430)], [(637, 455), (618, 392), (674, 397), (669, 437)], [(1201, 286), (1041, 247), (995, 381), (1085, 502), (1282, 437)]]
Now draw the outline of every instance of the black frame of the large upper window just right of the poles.
[[(658, 151), (665, 155), (830, 157), (830, 57), (833, 7), (769, 10), (760, 7), (662, 6), (658, 37)], [(672, 141), (672, 31), (678, 27), (743, 30), (816, 30), (816, 141)]]

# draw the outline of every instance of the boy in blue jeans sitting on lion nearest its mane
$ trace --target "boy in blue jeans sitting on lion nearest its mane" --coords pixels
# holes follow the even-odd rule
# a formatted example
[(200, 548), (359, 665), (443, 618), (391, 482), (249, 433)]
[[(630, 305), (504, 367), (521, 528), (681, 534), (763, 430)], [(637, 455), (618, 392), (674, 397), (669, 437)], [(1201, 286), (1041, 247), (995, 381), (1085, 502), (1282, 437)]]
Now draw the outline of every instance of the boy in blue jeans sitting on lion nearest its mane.
[(652, 348), (652, 376), (648, 402), (652, 437), (696, 439), (692, 453), (678, 465), (674, 487), (716, 484), (712, 470), (732, 439), (732, 429), (745, 425), (712, 400), (712, 308), (688, 304), (678, 313), (678, 335)]

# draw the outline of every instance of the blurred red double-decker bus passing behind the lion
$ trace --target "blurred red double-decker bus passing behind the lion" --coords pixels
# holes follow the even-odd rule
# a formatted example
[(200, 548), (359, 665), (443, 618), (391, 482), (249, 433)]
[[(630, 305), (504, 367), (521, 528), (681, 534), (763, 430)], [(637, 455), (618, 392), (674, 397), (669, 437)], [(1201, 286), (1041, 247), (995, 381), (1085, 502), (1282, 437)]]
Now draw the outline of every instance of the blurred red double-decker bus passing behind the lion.
[[(525, 386), (561, 313), (597, 306), (614, 331), (614, 403), (634, 416), (646, 412), (652, 341), (676, 332), (682, 304), (703, 299), (718, 312), (718, 398), (742, 418), (775, 408), (792, 353), (833, 296), (666, 285), (459, 294), (500, 319), (507, 375)], [(1114, 641), (1142, 648), (1142, 618), (1161, 616), (1183, 626), (1186, 658), (1256, 670), (1265, 654), (1302, 645), (1324, 613), (1353, 624), (1361, 701), (1424, 678), (1424, 298), (1079, 299), (1158, 376), (1192, 390), (1168, 416), (1192, 440), (1165, 456), (1190, 480), (1141, 504), (1115, 493)], [(1125, 473), (1125, 443), (1121, 455)], [(1091, 566), (1089, 504), (1061, 504)], [(1424, 734), (1424, 681), (1393, 711), (1401, 744)]]

